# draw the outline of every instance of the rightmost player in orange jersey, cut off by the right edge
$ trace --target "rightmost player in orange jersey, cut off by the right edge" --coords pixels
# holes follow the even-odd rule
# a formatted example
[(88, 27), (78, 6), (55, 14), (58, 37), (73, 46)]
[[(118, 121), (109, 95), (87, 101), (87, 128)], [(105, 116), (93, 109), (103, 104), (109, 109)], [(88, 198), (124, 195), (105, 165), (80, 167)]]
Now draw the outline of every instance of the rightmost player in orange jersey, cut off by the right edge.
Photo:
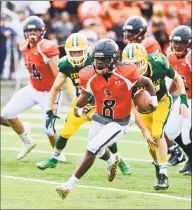
[[(188, 157), (186, 164), (180, 169), (180, 173), (190, 175), (192, 173), (192, 126), (191, 126), (191, 102), (192, 102), (192, 64), (191, 64), (191, 45), (192, 31), (188, 26), (180, 25), (176, 27), (170, 36), (170, 48), (167, 50), (167, 57), (170, 64), (182, 77), (186, 93), (188, 95), (188, 118), (185, 119), (177, 112), (179, 107), (179, 97), (175, 102), (170, 121), (166, 127), (166, 136), (172, 140), (169, 141), (169, 150), (171, 157), (169, 165), (177, 165), (185, 160), (184, 154), (179, 146), (184, 150)], [(170, 92), (176, 90), (173, 83), (170, 86)], [(173, 141), (177, 143), (174, 144)], [(179, 146), (178, 146), (179, 145)]]

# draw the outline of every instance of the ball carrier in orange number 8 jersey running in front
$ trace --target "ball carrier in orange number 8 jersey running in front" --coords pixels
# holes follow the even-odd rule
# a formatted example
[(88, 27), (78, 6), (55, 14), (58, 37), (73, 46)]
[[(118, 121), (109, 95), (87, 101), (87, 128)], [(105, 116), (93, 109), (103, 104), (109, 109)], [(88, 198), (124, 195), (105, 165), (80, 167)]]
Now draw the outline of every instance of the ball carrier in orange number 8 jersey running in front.
[[(99, 40), (93, 49), (92, 66), (79, 72), (82, 91), (76, 102), (75, 115), (82, 117), (91, 110), (87, 104), (89, 93), (95, 97), (96, 112), (92, 115), (87, 151), (81, 165), (66, 183), (56, 188), (63, 199), (93, 165), (96, 157), (106, 161), (108, 181), (112, 182), (115, 178), (119, 155), (112, 155), (108, 146), (127, 132), (132, 88), (144, 85), (157, 99), (151, 80), (140, 76), (135, 64), (119, 63), (118, 50), (113, 40)], [(157, 100), (154, 100), (149, 111), (154, 111), (156, 106)]]

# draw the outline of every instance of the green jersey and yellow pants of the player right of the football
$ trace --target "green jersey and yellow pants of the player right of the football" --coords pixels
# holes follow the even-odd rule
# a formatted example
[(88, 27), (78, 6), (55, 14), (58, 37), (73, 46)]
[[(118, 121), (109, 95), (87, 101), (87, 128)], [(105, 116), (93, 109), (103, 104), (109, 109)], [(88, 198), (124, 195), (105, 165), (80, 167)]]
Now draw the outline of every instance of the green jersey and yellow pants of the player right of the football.
[(164, 135), (164, 128), (168, 120), (172, 98), (168, 93), (165, 78), (173, 79), (175, 70), (170, 66), (168, 59), (161, 53), (148, 55), (149, 78), (152, 80), (158, 99), (157, 109), (150, 114), (140, 114), (143, 123), (151, 132), (154, 138), (161, 138)]

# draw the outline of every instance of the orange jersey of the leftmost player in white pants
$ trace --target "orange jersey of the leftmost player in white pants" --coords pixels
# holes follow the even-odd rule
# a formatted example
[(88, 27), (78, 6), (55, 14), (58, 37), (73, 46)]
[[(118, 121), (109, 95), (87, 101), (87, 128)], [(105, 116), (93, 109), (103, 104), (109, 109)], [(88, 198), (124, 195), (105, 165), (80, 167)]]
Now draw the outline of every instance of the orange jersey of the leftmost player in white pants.
[(47, 63), (49, 58), (59, 55), (58, 45), (50, 40), (43, 39), (39, 47), (28, 48), (28, 42), (20, 45), (25, 65), (30, 73), (30, 83), (38, 91), (50, 91), (55, 76)]

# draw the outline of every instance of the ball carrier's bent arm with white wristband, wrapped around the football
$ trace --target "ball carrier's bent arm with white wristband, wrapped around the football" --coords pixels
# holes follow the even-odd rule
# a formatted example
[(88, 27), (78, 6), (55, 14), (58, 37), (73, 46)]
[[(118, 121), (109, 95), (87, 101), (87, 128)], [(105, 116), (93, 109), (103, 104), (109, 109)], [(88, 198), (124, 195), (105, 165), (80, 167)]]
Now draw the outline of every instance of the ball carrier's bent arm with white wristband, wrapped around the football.
[(146, 112), (150, 113), (150, 112), (155, 111), (158, 106), (158, 102), (157, 102), (155, 88), (154, 88), (154, 85), (153, 85), (153, 82), (151, 81), (151, 79), (141, 75), (139, 77), (139, 79), (137, 80), (137, 82), (135, 83), (135, 85), (133, 86), (134, 89), (137, 89), (137, 87), (145, 87), (145, 89), (151, 95), (152, 101), (149, 106), (150, 108), (148, 110), (146, 110)]

